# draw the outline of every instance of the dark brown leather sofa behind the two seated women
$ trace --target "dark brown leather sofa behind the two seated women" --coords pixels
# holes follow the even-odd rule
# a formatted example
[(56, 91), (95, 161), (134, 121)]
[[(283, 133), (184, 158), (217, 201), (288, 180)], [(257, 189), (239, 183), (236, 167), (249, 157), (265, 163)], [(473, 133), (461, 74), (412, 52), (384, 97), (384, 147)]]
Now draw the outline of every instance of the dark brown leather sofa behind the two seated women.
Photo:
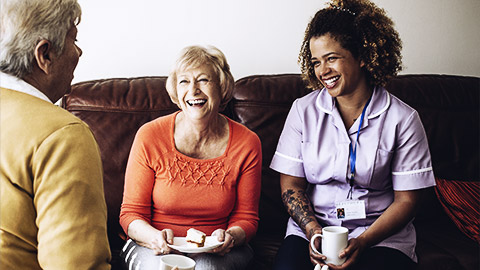
[[(62, 101), (64, 108), (90, 126), (100, 146), (113, 269), (121, 269), (118, 252), (125, 235), (118, 216), (135, 133), (142, 124), (178, 110), (165, 90), (165, 81), (166, 77), (138, 77), (81, 82), (73, 85), (71, 94)], [(402, 75), (387, 89), (420, 113), (436, 178), (441, 183), (465, 184), (470, 191), (472, 186), (478, 187), (480, 79)], [(245, 77), (236, 81), (234, 97), (224, 111), (256, 132), (262, 141), (260, 223), (250, 243), (255, 250), (251, 269), (271, 268), (285, 233), (288, 215), (280, 199), (279, 175), (269, 169), (269, 164), (293, 100), (308, 92), (299, 74)], [(473, 201), (478, 206), (475, 190)], [(451, 205), (444, 198), (449, 194), (432, 188), (424, 198), (415, 220), (418, 269), (478, 270), (478, 211), (467, 211), (476, 222), (472, 236), (462, 227), (467, 218), (458, 218), (462, 205)], [(464, 197), (462, 193), (456, 195)]]

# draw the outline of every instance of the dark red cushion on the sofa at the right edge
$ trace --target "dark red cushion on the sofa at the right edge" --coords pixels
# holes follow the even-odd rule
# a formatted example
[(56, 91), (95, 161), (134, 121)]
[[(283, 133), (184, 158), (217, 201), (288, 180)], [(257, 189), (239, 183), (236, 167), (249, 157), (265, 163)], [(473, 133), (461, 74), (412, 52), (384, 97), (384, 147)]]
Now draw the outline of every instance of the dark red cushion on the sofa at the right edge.
[(480, 183), (436, 179), (435, 192), (445, 212), (468, 237), (480, 243)]

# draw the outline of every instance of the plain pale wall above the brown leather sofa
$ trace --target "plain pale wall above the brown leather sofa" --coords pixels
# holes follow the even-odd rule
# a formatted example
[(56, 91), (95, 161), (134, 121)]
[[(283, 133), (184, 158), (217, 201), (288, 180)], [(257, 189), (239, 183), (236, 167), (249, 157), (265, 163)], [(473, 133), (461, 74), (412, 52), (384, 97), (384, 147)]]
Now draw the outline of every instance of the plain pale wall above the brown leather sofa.
[[(74, 82), (168, 75), (176, 54), (212, 44), (233, 75), (298, 73), (305, 26), (318, 0), (79, 0), (83, 56)], [(480, 76), (479, 0), (374, 0), (404, 43), (402, 73)]]

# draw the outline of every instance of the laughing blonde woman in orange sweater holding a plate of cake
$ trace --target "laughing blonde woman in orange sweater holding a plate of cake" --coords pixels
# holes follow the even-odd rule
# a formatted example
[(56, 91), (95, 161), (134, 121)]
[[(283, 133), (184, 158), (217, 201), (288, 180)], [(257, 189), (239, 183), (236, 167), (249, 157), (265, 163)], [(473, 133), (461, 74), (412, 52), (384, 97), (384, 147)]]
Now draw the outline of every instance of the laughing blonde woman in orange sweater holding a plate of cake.
[(180, 111), (141, 127), (128, 160), (120, 215), (131, 239), (126, 262), (157, 269), (159, 256), (176, 252), (173, 238), (193, 227), (223, 242), (190, 254), (195, 269), (246, 269), (262, 154), (255, 133), (219, 113), (233, 91), (225, 56), (213, 46), (185, 48), (167, 90)]

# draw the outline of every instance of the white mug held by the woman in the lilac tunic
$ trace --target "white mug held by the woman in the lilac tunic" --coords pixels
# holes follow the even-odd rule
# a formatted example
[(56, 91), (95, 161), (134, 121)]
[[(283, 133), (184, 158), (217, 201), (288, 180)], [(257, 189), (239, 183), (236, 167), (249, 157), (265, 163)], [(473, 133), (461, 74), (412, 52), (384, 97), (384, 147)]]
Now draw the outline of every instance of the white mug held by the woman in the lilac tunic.
[[(322, 238), (322, 252), (315, 248), (315, 239)], [(326, 263), (341, 265), (345, 258), (339, 258), (340, 251), (347, 247), (348, 229), (342, 226), (328, 226), (322, 229), (322, 233), (317, 233), (310, 239), (312, 250), (318, 254), (323, 254), (327, 259)]]

